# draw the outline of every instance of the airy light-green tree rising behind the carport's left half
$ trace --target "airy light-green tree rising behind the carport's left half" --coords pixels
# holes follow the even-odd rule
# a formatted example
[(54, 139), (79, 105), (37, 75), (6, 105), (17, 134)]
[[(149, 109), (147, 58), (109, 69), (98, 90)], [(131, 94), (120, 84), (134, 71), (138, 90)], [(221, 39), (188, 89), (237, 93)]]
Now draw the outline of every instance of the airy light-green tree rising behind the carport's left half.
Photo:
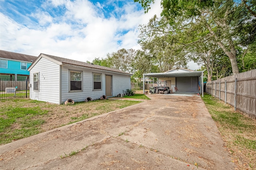
[[(170, 40), (172, 27), (164, 18), (154, 16), (147, 25), (140, 25), (138, 43), (144, 51), (148, 51), (151, 62), (159, 66), (160, 72), (166, 72), (174, 66), (186, 66), (186, 51), (175, 48), (175, 43)], [(177, 35), (174, 35), (174, 39)], [(175, 50), (174, 50), (175, 49)]]

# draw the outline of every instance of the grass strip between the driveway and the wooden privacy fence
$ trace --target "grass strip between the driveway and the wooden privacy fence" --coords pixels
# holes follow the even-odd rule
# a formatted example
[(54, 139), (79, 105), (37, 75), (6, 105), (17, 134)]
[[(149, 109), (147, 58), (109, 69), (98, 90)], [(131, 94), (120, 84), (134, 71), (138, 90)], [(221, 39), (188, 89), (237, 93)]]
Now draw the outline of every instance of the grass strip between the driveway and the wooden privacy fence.
[(209, 94), (204, 94), (202, 100), (238, 169), (256, 170), (256, 121), (234, 111), (234, 107)]

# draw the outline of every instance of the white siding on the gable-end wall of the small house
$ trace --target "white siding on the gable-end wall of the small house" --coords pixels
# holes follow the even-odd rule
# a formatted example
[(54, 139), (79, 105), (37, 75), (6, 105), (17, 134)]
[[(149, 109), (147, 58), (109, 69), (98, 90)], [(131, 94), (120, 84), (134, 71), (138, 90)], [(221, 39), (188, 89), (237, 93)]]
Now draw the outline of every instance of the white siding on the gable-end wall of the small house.
[[(34, 91), (33, 74), (39, 72), (39, 91)], [(30, 70), (30, 99), (59, 104), (60, 66), (41, 58)]]

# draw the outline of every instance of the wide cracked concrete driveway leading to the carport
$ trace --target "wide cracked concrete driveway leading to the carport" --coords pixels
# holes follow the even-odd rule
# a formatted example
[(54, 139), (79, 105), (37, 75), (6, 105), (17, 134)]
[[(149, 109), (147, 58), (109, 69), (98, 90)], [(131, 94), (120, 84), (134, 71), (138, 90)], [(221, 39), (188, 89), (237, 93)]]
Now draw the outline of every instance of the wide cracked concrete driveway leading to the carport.
[(0, 169), (235, 169), (200, 96), (148, 97), (152, 100), (1, 145)]

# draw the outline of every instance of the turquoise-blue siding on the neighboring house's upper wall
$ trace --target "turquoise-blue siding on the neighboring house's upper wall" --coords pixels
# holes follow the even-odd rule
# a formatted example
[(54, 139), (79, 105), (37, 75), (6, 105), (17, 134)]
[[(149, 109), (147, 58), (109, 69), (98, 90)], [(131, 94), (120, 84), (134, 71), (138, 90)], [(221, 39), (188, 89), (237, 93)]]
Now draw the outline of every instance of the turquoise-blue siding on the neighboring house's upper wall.
[[(7, 61), (7, 68), (0, 68), (0, 73), (6, 73), (6, 74), (24, 74), (29, 75), (28, 70), (21, 70), (20, 69), (20, 63), (21, 61)], [(27, 63), (27, 62), (24, 62)], [(27, 63), (27, 69), (32, 63)]]

